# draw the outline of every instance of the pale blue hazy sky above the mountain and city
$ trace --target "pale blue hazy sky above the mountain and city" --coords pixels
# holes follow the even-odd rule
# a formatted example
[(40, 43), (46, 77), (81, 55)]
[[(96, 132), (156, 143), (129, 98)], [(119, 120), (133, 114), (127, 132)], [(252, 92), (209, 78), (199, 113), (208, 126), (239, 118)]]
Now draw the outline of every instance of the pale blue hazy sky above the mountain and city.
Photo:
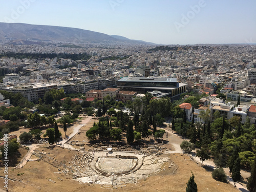
[(157, 44), (256, 42), (255, 0), (0, 0), (0, 22), (74, 27)]

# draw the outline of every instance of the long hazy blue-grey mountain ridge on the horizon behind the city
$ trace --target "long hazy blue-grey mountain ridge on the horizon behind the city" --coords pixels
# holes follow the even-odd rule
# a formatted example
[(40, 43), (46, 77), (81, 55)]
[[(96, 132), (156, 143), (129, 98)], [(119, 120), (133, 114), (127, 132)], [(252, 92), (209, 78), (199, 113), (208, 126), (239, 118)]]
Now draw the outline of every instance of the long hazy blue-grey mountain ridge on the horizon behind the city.
[(156, 45), (142, 40), (131, 40), (118, 35), (58, 26), (0, 23), (0, 40), (8, 44), (34, 44), (35, 41), (66, 42), (127, 42), (130, 44)]

